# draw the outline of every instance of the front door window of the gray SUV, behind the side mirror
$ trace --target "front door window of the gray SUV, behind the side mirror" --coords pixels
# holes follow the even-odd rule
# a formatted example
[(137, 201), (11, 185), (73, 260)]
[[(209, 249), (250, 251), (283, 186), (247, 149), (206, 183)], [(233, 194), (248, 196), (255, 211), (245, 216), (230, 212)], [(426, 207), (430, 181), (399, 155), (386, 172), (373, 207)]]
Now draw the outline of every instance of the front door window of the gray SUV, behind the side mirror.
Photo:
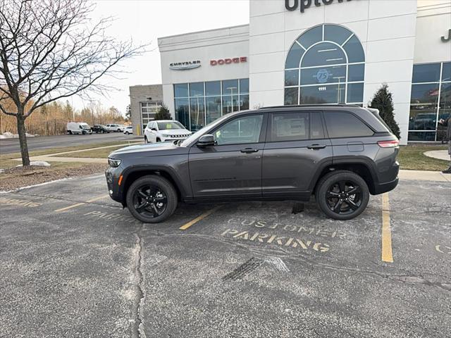
[(263, 115), (250, 115), (236, 118), (222, 125), (214, 132), (219, 146), (223, 144), (257, 143), (260, 139)]

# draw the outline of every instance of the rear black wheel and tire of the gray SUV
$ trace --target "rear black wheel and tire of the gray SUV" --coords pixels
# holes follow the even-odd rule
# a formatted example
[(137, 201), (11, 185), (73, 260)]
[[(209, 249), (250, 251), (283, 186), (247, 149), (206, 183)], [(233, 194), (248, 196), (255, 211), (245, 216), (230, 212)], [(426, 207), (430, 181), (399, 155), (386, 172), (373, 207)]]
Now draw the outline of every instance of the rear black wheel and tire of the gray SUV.
[(319, 208), (328, 217), (350, 220), (364, 212), (369, 202), (369, 189), (356, 173), (335, 170), (319, 180), (315, 197)]

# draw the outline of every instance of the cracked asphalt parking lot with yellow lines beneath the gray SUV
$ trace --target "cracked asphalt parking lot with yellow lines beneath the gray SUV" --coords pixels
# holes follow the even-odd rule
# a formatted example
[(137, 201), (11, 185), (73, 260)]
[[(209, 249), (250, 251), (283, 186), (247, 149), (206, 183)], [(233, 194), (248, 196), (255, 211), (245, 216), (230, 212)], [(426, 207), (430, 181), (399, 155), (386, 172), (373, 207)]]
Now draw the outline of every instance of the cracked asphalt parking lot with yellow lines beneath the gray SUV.
[(451, 337), (451, 183), (357, 219), (182, 204), (142, 224), (104, 177), (0, 194), (0, 337)]

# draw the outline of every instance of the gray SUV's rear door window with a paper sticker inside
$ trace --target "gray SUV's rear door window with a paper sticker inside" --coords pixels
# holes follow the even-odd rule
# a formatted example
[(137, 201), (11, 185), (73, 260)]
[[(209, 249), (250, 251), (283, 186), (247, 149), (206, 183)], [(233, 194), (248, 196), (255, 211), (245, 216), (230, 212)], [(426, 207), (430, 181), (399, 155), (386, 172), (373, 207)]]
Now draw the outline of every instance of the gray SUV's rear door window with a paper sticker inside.
[(271, 141), (309, 139), (309, 113), (276, 113), (271, 119)]

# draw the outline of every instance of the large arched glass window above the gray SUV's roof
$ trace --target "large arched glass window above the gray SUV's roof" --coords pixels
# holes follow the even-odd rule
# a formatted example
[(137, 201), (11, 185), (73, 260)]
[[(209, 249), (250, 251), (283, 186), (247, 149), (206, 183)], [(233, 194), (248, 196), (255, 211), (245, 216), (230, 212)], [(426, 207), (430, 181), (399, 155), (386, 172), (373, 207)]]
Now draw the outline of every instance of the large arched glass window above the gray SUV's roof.
[(285, 104), (363, 104), (365, 54), (339, 25), (304, 32), (285, 61)]

